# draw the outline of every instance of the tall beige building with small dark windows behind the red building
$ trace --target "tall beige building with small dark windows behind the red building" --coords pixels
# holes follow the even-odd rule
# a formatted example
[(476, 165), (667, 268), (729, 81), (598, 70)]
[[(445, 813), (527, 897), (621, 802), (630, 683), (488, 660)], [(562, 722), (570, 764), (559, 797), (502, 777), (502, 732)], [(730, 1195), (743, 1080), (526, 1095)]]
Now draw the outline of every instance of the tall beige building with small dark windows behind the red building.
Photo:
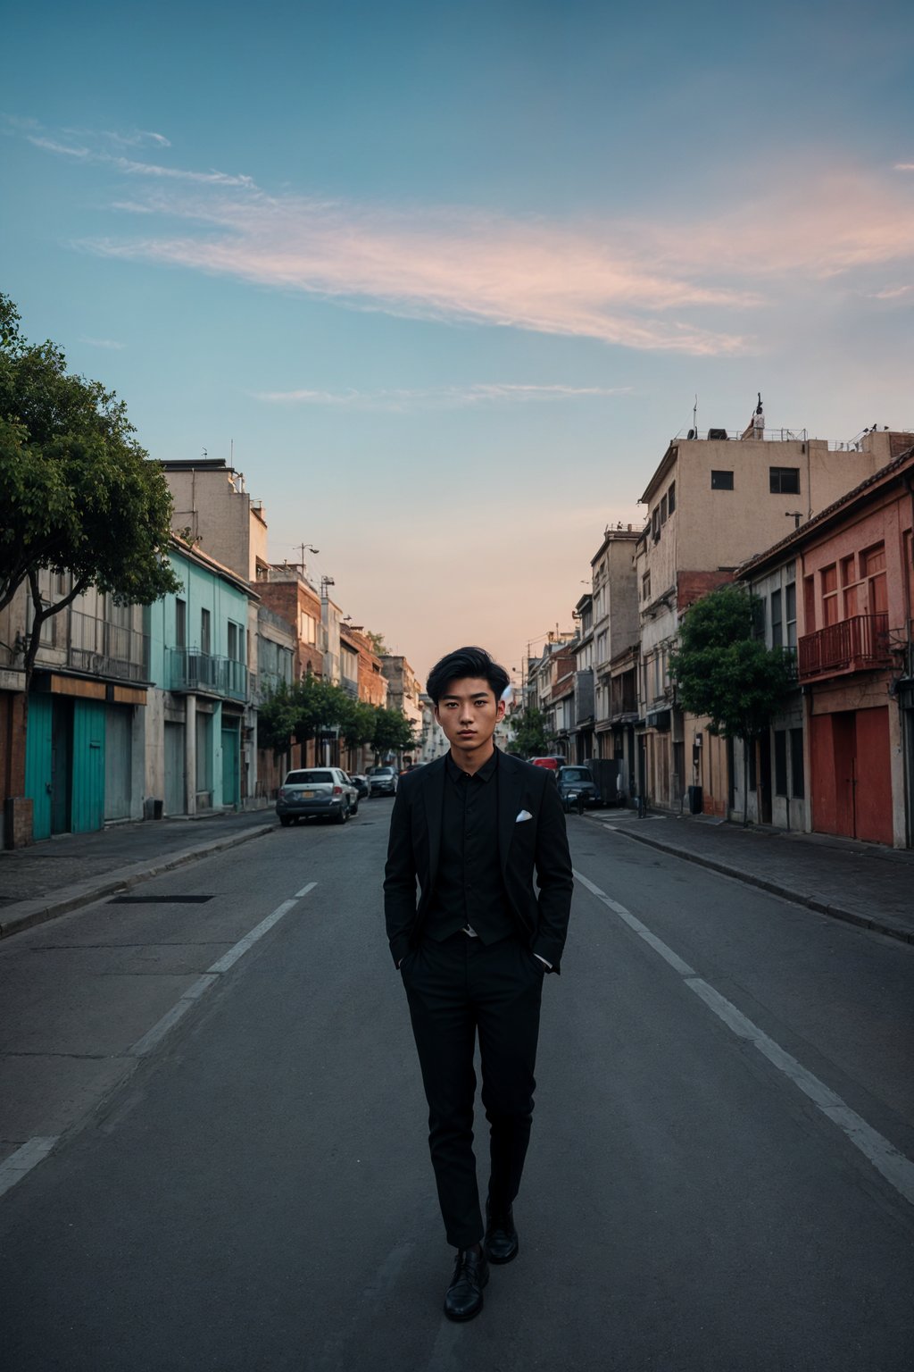
[[(748, 432), (748, 431), (747, 431)], [(640, 615), (637, 788), (678, 809), (689, 786), (726, 808), (724, 745), (706, 720), (684, 720), (669, 659), (680, 615), (733, 579), (734, 569), (811, 519), (889, 461), (910, 436), (869, 432), (850, 443), (710, 429), (676, 439), (648, 482), (648, 521), (636, 545)], [(718, 799), (719, 797), (719, 799)]]

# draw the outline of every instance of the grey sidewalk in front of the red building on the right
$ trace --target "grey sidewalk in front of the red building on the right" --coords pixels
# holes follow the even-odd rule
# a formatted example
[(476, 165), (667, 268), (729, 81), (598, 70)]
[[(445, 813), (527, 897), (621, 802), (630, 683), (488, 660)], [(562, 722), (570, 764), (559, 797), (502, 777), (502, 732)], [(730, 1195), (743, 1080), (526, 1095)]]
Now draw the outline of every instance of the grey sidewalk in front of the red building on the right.
[(725, 823), (706, 815), (589, 811), (637, 842), (736, 877), (854, 925), (914, 943), (914, 852), (825, 834)]

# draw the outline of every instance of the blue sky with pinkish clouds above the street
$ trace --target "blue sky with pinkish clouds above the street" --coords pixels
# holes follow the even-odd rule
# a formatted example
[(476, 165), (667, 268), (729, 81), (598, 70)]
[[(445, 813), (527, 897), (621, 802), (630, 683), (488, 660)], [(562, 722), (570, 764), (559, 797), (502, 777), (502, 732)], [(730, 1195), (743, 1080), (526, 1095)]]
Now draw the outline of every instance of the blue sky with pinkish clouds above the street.
[(508, 667), (691, 424), (914, 427), (902, 4), (37, 3), (0, 288), (421, 672)]

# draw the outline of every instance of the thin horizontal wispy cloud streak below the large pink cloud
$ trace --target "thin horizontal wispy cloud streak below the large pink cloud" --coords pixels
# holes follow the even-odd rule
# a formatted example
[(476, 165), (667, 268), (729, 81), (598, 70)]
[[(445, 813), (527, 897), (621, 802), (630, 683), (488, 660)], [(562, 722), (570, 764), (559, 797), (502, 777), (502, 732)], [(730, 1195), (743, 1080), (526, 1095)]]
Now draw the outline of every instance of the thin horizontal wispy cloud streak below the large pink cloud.
[(499, 402), (577, 401), (629, 395), (630, 387), (604, 386), (523, 386), (514, 383), (480, 383), (475, 386), (441, 386), (423, 390), (380, 391), (255, 391), (254, 398), (271, 405), (328, 405), (359, 410), (462, 409)]

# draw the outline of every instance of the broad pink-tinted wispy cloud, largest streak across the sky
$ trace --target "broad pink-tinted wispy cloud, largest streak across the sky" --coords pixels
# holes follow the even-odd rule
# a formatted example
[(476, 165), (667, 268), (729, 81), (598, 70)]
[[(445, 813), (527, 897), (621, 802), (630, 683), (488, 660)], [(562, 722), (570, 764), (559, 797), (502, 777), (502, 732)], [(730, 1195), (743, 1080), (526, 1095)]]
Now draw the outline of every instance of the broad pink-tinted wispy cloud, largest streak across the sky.
[[(245, 174), (145, 162), (47, 130), (25, 136), (44, 151), (104, 162), (144, 182), (118, 207), (158, 217), (162, 230), (81, 244), (99, 255), (229, 276), (352, 309), (639, 351), (758, 351), (767, 307), (782, 313), (798, 289), (808, 299), (839, 281), (858, 299), (889, 299), (899, 266), (914, 259), (911, 182), (887, 169), (798, 165), (771, 178), (771, 189), (734, 196), (711, 214), (684, 204), (652, 220), (569, 225), (466, 207), (267, 195)], [(873, 280), (885, 268), (895, 280)]]

